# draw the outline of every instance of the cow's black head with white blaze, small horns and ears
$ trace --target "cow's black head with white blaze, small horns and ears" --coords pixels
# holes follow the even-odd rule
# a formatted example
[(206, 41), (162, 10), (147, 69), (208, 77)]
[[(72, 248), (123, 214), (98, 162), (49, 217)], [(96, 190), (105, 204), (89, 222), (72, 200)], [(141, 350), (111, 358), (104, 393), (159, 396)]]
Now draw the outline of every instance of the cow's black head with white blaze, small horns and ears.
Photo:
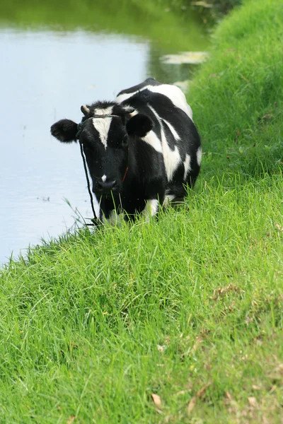
[(129, 150), (134, 136), (144, 137), (154, 123), (132, 107), (109, 102), (82, 106), (83, 119), (76, 124), (62, 119), (51, 126), (51, 134), (63, 143), (79, 140), (86, 155), (96, 196), (115, 195), (129, 166)]

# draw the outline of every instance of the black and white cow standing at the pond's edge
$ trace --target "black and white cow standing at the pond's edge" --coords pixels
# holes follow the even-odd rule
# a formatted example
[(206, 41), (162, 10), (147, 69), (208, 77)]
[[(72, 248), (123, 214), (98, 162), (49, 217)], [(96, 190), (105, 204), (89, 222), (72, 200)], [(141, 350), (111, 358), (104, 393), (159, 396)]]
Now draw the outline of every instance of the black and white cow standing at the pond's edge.
[(83, 145), (100, 220), (121, 211), (154, 216), (158, 205), (180, 201), (185, 187), (195, 184), (200, 136), (178, 87), (148, 78), (113, 102), (82, 106), (81, 112), (81, 123), (62, 119), (51, 133)]

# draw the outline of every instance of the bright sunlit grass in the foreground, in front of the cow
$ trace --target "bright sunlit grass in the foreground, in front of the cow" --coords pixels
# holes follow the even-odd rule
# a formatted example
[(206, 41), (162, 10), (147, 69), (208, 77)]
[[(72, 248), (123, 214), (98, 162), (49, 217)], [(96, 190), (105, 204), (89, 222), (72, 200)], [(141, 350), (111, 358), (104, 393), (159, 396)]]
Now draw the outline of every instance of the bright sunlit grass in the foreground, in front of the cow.
[(189, 211), (82, 231), (10, 264), (1, 295), (6, 422), (185, 423), (190, 399), (211, 382), (192, 417), (258, 419), (266, 408), (279, 423), (282, 179), (224, 178), (202, 181)]

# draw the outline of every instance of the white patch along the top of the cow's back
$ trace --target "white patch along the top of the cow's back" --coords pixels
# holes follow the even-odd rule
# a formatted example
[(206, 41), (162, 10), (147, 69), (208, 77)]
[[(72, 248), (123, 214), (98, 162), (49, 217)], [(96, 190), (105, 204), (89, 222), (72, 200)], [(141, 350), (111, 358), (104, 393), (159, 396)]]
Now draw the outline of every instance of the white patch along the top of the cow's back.
[(145, 86), (141, 88), (141, 90), (134, 91), (133, 93), (120, 94), (115, 99), (115, 102), (124, 102), (125, 100), (131, 98), (133, 95), (143, 90), (149, 90), (152, 93), (160, 93), (166, 95), (166, 97), (168, 97), (176, 107), (179, 107), (179, 109), (183, 110), (185, 114), (187, 114), (187, 116), (192, 119), (192, 109), (187, 104), (185, 94), (182, 90), (180, 90), (180, 88), (176, 86), (171, 86), (170, 84), (161, 84), (160, 86)]

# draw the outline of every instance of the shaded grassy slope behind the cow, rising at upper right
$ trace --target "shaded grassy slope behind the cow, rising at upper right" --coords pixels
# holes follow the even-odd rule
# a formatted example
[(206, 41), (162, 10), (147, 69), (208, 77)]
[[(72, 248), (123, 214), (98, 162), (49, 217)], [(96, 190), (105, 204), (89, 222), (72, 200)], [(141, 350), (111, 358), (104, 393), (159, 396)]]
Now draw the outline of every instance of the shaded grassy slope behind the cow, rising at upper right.
[(282, 19), (282, 1), (249, 0), (216, 29), (212, 59), (188, 98), (211, 155), (209, 177), (282, 170)]

